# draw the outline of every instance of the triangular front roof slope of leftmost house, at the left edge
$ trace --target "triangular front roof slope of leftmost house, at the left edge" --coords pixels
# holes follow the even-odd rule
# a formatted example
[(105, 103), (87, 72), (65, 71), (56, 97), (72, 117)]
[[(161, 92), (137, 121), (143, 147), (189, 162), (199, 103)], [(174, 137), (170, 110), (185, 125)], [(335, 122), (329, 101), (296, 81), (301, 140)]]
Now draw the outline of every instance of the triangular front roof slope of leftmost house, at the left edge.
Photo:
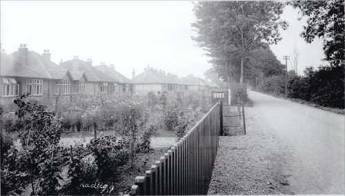
[(8, 55), (1, 54), (0, 75), (9, 77), (32, 77), (32, 78), (49, 78), (40, 72), (28, 67), (22, 66), (21, 63), (14, 61)]

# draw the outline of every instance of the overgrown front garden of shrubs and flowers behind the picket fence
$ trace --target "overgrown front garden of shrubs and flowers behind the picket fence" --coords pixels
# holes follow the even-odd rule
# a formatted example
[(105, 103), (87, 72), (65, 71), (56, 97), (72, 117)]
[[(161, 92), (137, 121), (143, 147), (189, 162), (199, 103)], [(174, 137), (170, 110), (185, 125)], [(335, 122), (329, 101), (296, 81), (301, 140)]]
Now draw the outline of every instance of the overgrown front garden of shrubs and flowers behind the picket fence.
[(1, 195), (123, 195), (211, 107), (206, 92), (1, 108)]

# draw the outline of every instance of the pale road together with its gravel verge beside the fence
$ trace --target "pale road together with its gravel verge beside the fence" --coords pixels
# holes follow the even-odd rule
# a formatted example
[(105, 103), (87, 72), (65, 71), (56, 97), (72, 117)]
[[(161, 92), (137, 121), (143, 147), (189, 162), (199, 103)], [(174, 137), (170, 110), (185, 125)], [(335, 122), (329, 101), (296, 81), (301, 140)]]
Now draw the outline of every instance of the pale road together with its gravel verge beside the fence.
[(247, 135), (221, 137), (209, 193), (344, 195), (344, 116), (259, 92), (248, 97)]

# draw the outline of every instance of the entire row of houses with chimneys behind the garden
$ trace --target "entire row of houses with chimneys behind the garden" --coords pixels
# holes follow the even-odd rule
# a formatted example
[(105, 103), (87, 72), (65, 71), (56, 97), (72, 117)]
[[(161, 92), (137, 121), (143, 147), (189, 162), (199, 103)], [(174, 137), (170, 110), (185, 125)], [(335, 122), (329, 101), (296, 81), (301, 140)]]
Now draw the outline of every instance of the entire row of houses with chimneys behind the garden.
[(199, 77), (179, 78), (154, 68), (144, 68), (144, 72), (128, 79), (115, 70), (114, 65), (106, 63), (93, 65), (92, 59), (83, 61), (77, 56), (59, 64), (50, 60), (49, 50), (42, 54), (28, 50), (21, 44), (17, 51), (6, 54), (1, 52), (0, 63), (0, 104), (6, 105), (16, 97), (30, 92), (30, 96), (39, 99), (55, 99), (86, 94), (109, 97), (146, 94), (150, 91), (160, 94), (171, 90), (197, 92), (208, 88), (217, 88)]

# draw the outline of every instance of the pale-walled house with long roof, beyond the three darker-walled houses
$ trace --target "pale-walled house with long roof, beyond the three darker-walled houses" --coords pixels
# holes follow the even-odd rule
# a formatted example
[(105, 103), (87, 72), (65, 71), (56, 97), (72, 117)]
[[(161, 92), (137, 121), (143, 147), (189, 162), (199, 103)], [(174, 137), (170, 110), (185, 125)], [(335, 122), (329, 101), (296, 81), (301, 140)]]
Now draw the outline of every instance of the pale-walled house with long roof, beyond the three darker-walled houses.
[(171, 73), (166, 74), (162, 70), (154, 68), (144, 68), (144, 72), (132, 78), (135, 86), (135, 92), (146, 95), (152, 91), (155, 94), (168, 92), (172, 90), (184, 90), (184, 84), (177, 75)]

